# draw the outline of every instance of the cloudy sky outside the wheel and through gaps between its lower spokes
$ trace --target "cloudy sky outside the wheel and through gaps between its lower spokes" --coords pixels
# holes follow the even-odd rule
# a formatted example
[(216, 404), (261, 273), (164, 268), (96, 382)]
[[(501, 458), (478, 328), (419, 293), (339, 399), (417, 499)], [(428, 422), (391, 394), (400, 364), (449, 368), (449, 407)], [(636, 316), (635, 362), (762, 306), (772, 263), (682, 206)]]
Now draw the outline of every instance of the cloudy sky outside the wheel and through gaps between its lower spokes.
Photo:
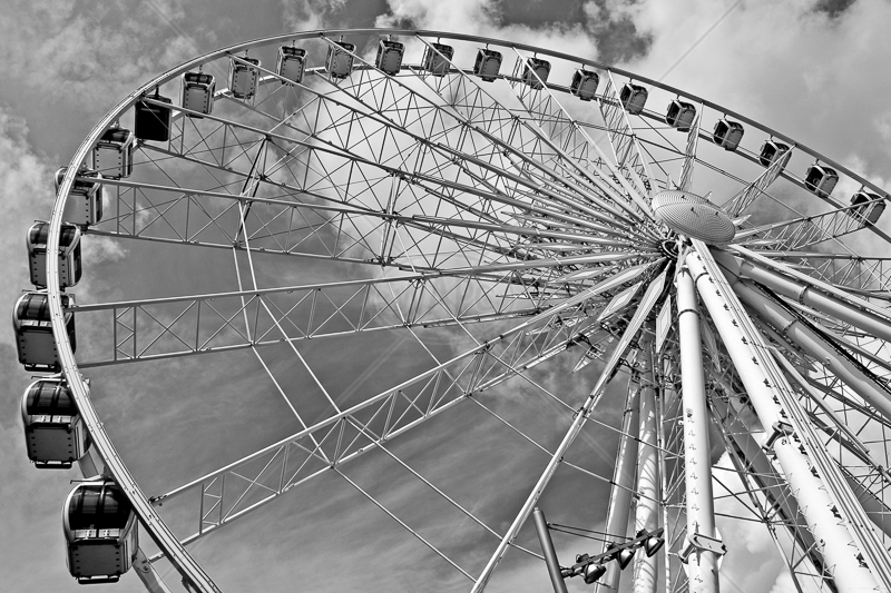
[[(48, 216), (53, 199), (52, 172), (67, 164), (95, 121), (141, 81), (189, 57), (287, 31), (417, 27), (575, 52), (726, 105), (814, 147), (880, 186), (885, 185), (891, 165), (891, 107), (887, 101), (891, 93), (887, 69), (887, 57), (891, 55), (891, 38), (887, 34), (891, 2), (885, 0), (0, 0), (0, 8), (4, 14), (0, 20), (0, 50), (6, 58), (7, 80), (0, 87), (0, 188), (6, 204), (0, 217), (0, 241), (9, 254), (0, 259), (0, 270), (7, 279), (0, 285), (0, 300), (9, 307), (19, 290), (27, 287), (26, 229), (32, 220)], [(88, 270), (102, 267), (108, 277), (125, 268), (144, 266), (146, 271), (143, 280), (137, 278), (129, 286), (115, 286), (102, 275), (90, 278), (87, 273), (75, 290), (79, 303), (139, 290), (175, 294), (188, 280), (182, 270), (153, 266), (153, 261), (173, 260), (175, 255), (165, 249), (141, 250), (88, 237), (84, 257)], [(333, 274), (316, 264), (306, 266), (306, 277)], [(379, 348), (376, 338), (350, 339), (349, 344), (332, 340), (307, 347), (305, 355), (311, 366), (333, 373), (337, 365), (332, 360), (336, 360), (341, 348)], [(443, 344), (443, 352), (449, 347)], [(415, 368), (411, 350), (409, 343), (393, 343), (379, 356), (366, 356), (365, 363), (386, 365), (393, 377), (411, 376)], [(282, 413), (281, 401), (257, 404), (244, 397), (254, 385), (242, 374), (245, 359), (227, 356), (160, 368), (119, 367), (104, 376), (102, 386), (97, 389), (97, 407), (144, 490), (176, 485), (196, 468), (212, 470), (293, 428)], [(271, 356), (275, 360), (284, 358), (283, 353)], [(355, 376), (361, 376), (360, 367), (358, 364), (354, 373), (326, 380), (346, 389), (355, 383)], [(567, 369), (565, 362), (558, 363), (537, 370), (535, 376), (569, 401), (582, 394), (594, 377), (590, 373), (568, 375)], [(288, 375), (284, 363), (280, 370), (294, 385), (309, 380)], [(156, 383), (153, 377), (158, 372), (172, 377), (188, 376), (192, 382)], [(373, 385), (374, 380), (384, 379), (368, 382)], [(28, 464), (19, 399), (29, 375), (16, 362), (11, 329), (0, 333), (0, 383), (4, 386), (0, 414), (0, 525), (4, 534), (0, 575), (4, 590), (76, 590), (78, 585), (65, 569), (59, 522), (59, 508), (75, 475), (39, 472)], [(188, 389), (187, 397), (184, 389)], [(493, 405), (509, 413), (517, 404), (511, 395), (528, 395), (523, 404), (530, 406), (530, 414), (542, 418), (531, 429), (540, 431), (545, 443), (556, 445), (555, 439), (561, 434), (556, 404), (536, 398), (519, 383), (511, 383)], [(617, 409), (614, 403), (606, 414), (615, 421)], [(467, 427), (461, 438), (482, 443), (474, 463), (447, 463), (449, 456), (438, 454), (448, 451), (449, 428), (454, 425), (449, 423)], [(586, 451), (595, 457), (593, 463), (607, 467), (615, 438), (598, 441), (593, 431), (586, 433)], [(193, 442), (200, 445), (189, 448)], [(431, 481), (460, 493), (462, 484), (471, 478), (503, 485), (505, 480), (516, 478), (520, 484), (537, 475), (544, 456), (535, 451), (525, 453), (529, 467), (518, 473), (516, 467), (501, 463), (501, 455), (508, 453), (506, 447), (519, 451), (521, 445), (505, 443), (513, 442), (490, 419), (462, 411), (457, 418), (431, 423), (423, 448), (401, 451), (399, 443), (393, 447), (437, 477)], [(184, 451), (186, 455), (182, 454)], [(370, 490), (378, 488), (375, 494), (404, 510), (407, 516), (422, 516), (440, 504), (404, 475), (404, 482), (380, 483), (381, 475), (395, 474), (389, 473), (393, 470), (381, 455), (370, 457), (351, 476)], [(481, 473), (488, 477), (480, 478)], [(476, 487), (476, 492), (486, 492), (484, 482)], [(579, 521), (597, 516), (589, 506), (604, 500), (607, 491), (601, 484), (580, 482), (575, 476), (558, 474), (548, 504), (577, 501), (571, 494), (575, 487), (582, 490), (586, 500), (579, 505)], [(421, 557), (417, 542), (405, 537), (384, 514), (370, 511), (366, 501), (335, 476), (306, 490), (300, 500), (273, 504), (258, 516), (236, 523), (222, 534), (227, 538), (225, 543), (205, 543), (208, 538), (195, 547), (196, 556), (218, 571), (213, 574), (221, 575), (225, 590), (252, 590), (258, 585), (293, 590), (300, 584), (322, 591), (352, 591), (366, 579), (378, 583), (374, 590), (464, 586), (448, 566), (435, 569), (434, 574), (441, 577), (439, 586), (425, 584), (419, 581), (411, 562), (389, 576), (353, 573), (351, 563), (369, 566), (375, 554), (390, 560)], [(526, 492), (518, 491), (516, 500), (481, 497), (476, 502), (480, 507), (510, 507), (525, 496)], [(304, 506), (301, 501), (314, 504)], [(441, 516), (450, 517), (446, 512)], [(725, 533), (734, 542), (733, 554), (738, 559), (733, 560), (732, 554), (723, 569), (728, 590), (737, 583), (745, 584), (745, 591), (792, 591), (780, 561), (772, 554), (773, 544), (763, 533), (755, 532), (756, 527), (761, 528), (736, 526), (734, 537)], [(437, 533), (452, 542), (460, 554), (459, 535), (464, 528), (459, 518), (443, 518)], [(300, 541), (295, 541), (294, 533), (301, 534)], [(355, 545), (372, 537), (378, 542), (373, 550)], [(558, 545), (566, 550), (570, 546), (560, 542)], [(430, 557), (425, 561), (437, 562)], [(757, 576), (752, 576), (753, 566), (760, 567)], [(510, 564), (500, 579), (493, 581), (493, 590), (542, 591), (547, 586), (540, 565)], [(139, 591), (140, 585), (129, 574), (115, 590)]]

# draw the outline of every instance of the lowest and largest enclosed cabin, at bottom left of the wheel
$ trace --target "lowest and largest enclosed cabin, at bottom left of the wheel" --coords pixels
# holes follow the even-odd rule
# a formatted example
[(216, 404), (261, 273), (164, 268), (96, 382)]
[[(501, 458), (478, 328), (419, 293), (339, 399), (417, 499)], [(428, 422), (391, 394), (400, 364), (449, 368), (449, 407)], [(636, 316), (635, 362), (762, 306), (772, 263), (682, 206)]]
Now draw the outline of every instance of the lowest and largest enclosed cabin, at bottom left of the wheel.
[(139, 546), (136, 514), (111, 481), (84, 482), (62, 508), (68, 572), (78, 583), (114, 583), (130, 570)]

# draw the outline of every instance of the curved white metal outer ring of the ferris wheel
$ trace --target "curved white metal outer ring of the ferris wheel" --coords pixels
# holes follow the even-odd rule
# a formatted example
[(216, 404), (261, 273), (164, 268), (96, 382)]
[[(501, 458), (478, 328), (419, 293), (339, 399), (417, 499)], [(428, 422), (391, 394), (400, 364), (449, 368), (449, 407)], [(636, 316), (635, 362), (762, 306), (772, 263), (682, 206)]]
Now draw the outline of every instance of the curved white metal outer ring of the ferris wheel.
[[(292, 33), (266, 37), (262, 39), (255, 39), (246, 43), (238, 43), (235, 46), (229, 46), (227, 48), (212, 51), (202, 57), (184, 62), (163, 75), (159, 75), (158, 77), (151, 79), (147, 83), (143, 85), (141, 87), (130, 92), (124, 100), (121, 100), (118, 105), (116, 105), (102, 119), (100, 119), (99, 122), (96, 123), (96, 126), (90, 130), (90, 132), (87, 135), (87, 137), (81, 142), (80, 147), (78, 147), (77, 151), (71, 158), (71, 164), (79, 164), (86, 161), (89, 151), (96, 145), (96, 141), (99, 139), (99, 136), (112, 122), (117, 121), (121, 116), (121, 113), (124, 113), (128, 108), (130, 108), (141, 95), (150, 91), (157, 86), (160, 86), (174, 79), (175, 77), (178, 77), (179, 75), (192, 68), (195, 68), (210, 60), (222, 58), (237, 51), (243, 51), (261, 46), (267, 46), (271, 43), (275, 43), (276, 41), (291, 41), (297, 39), (332, 37), (339, 34), (401, 34), (401, 36), (418, 36), (418, 37), (437, 37), (437, 38), (454, 39), (460, 41), (471, 41), (479, 43), (492, 43), (496, 46), (512, 47), (526, 51), (533, 51), (545, 56), (551, 56), (554, 58), (564, 59), (570, 62), (578, 62), (579, 65), (591, 66), (600, 70), (616, 72), (618, 75), (631, 78), (634, 80), (645, 82), (647, 85), (682, 96), (686, 99), (692, 99), (696, 102), (702, 103), (703, 106), (709, 107), (716, 111), (721, 111), (756, 129), (767, 132), (774, 138), (789, 142), (795, 146), (797, 149), (817, 158), (820, 161), (825, 162), (830, 167), (833, 167), (835, 170), (841, 171), (846, 176), (851, 177), (852, 179), (861, 182), (863, 186), (869, 187), (875, 194), (883, 196), (885, 200), (891, 201), (888, 192), (885, 192), (882, 188), (862, 178), (861, 176), (856, 175), (855, 172), (851, 171), (850, 169), (840, 165), (839, 162), (835, 162), (834, 160), (824, 157), (823, 155), (820, 155), (819, 152), (807, 148), (802, 144), (792, 140), (791, 138), (777, 132), (776, 130), (762, 126), (717, 103), (707, 101), (705, 99), (696, 97), (695, 95), (686, 93), (672, 86), (664, 85), (656, 80), (652, 80), (646, 77), (635, 75), (634, 72), (629, 72), (627, 70), (613, 68), (595, 60), (579, 58), (577, 56), (570, 56), (568, 53), (550, 51), (547, 49), (537, 48), (535, 46), (528, 46), (525, 43), (510, 43), (498, 39), (484, 38), (479, 36), (450, 33), (442, 31), (409, 30), (409, 29), (331, 29), (331, 30), (307, 31), (301, 33), (292, 32)], [(65, 210), (65, 202), (68, 198), (68, 194), (71, 191), (76, 172), (77, 172), (76, 167), (69, 166), (68, 170), (65, 174), (65, 178), (62, 179), (62, 182), (59, 187), (59, 191), (56, 197), (56, 202), (52, 208), (52, 217), (50, 219), (49, 243), (47, 245), (47, 253), (53, 254), (58, 253), (59, 250), (59, 231), (61, 229), (62, 211)], [(891, 241), (891, 237), (887, 236), (884, 233), (877, 229), (874, 226), (871, 226), (869, 228), (871, 228), (874, 233), (881, 235), (887, 240)], [(87, 395), (88, 392), (85, 378), (78, 372), (77, 362), (75, 360), (75, 355), (71, 352), (71, 345), (68, 340), (68, 335), (65, 330), (65, 317), (60, 298), (61, 290), (59, 286), (59, 276), (58, 276), (58, 258), (55, 257), (47, 258), (47, 290), (49, 294), (52, 332), (56, 337), (56, 345), (59, 353), (59, 359), (61, 360), (61, 368), (71, 388), (75, 403), (77, 404), (77, 407), (81, 416), (84, 417), (87, 429), (89, 431), (90, 436), (92, 437), (92, 444), (96, 447), (97, 453), (101, 456), (102, 461), (105, 462), (106, 466), (105, 473), (107, 475), (110, 475), (115, 480), (115, 482), (117, 482), (118, 485), (121, 487), (124, 493), (130, 500), (130, 503), (133, 504), (133, 507), (136, 511), (136, 514), (139, 517), (144, 528), (146, 528), (149, 532), (149, 535), (156, 542), (158, 547), (160, 547), (161, 552), (170, 560), (174, 566), (179, 571), (184, 580), (190, 583), (190, 585), (194, 589), (200, 592), (219, 591), (216, 584), (210, 580), (209, 575), (205, 573), (205, 571), (200, 567), (200, 565), (198, 565), (198, 563), (185, 550), (183, 544), (179, 543), (179, 541), (176, 538), (173, 532), (170, 532), (167, 525), (164, 524), (164, 521), (155, 512), (151, 504), (146, 498), (145, 494), (139, 490), (135, 478), (133, 477), (133, 475), (130, 475), (127, 467), (118, 457), (114, 444), (106, 434), (105, 428), (102, 427), (102, 423), (99, 421), (99, 417), (95, 408), (92, 407), (92, 404), (90, 403), (90, 399)]]

